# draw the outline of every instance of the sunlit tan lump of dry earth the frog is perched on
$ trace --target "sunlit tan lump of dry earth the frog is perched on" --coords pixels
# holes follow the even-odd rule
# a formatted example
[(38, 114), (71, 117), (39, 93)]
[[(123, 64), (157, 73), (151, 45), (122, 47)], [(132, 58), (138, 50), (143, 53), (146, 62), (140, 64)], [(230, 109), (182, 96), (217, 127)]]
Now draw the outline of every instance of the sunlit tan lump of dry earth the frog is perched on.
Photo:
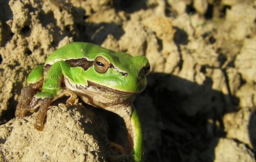
[(12, 119), (0, 127), (0, 160), (105, 161), (108, 125), (102, 111), (94, 110), (82, 105), (51, 106), (44, 131), (33, 126), (36, 113)]

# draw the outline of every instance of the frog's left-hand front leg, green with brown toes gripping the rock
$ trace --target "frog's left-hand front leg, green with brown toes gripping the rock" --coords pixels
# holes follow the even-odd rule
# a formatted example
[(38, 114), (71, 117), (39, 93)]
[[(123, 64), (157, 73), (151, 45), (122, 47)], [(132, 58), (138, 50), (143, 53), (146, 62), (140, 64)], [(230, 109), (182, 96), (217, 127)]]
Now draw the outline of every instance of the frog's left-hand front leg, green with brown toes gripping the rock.
[[(63, 87), (61, 87), (61, 83), (63, 82), (63, 68), (67, 70), (70, 66), (64, 61), (55, 62), (45, 75), (44, 84), (42, 84), (42, 91), (34, 95), (29, 106), (22, 108), (23, 111), (19, 112), (19, 118), (22, 118), (27, 111), (33, 112), (38, 106), (40, 106), (35, 123), (35, 128), (39, 131), (44, 130), (45, 115), (48, 107), (54, 100), (64, 95), (70, 96), (67, 100), (67, 104), (72, 105), (75, 103), (77, 98), (73, 91), (62, 89)], [(69, 72), (66, 71), (65, 73), (65, 75), (68, 75), (67, 73)]]

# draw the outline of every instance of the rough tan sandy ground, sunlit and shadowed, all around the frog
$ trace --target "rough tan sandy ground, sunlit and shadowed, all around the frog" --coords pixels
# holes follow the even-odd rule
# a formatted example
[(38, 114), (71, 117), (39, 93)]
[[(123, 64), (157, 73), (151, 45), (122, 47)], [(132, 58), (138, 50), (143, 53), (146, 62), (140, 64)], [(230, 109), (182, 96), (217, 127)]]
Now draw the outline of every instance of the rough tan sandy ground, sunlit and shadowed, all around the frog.
[(33, 67), (73, 41), (151, 63), (135, 107), (143, 161), (255, 161), (255, 1), (0, 1), (0, 161), (106, 161), (116, 114), (55, 101), (17, 120)]

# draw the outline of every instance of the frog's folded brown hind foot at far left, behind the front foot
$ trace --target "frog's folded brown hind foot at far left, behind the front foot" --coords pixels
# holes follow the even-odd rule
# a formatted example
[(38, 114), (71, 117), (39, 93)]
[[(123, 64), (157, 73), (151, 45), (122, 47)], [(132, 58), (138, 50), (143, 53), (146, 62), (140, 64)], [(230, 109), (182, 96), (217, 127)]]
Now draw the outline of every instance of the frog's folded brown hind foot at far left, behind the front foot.
[(22, 92), (20, 94), (20, 100), (16, 107), (15, 116), (17, 118), (22, 118), (25, 116), (28, 110), (31, 110), (29, 104), (33, 96), (37, 93), (37, 90), (32, 88), (31, 86), (23, 87)]

